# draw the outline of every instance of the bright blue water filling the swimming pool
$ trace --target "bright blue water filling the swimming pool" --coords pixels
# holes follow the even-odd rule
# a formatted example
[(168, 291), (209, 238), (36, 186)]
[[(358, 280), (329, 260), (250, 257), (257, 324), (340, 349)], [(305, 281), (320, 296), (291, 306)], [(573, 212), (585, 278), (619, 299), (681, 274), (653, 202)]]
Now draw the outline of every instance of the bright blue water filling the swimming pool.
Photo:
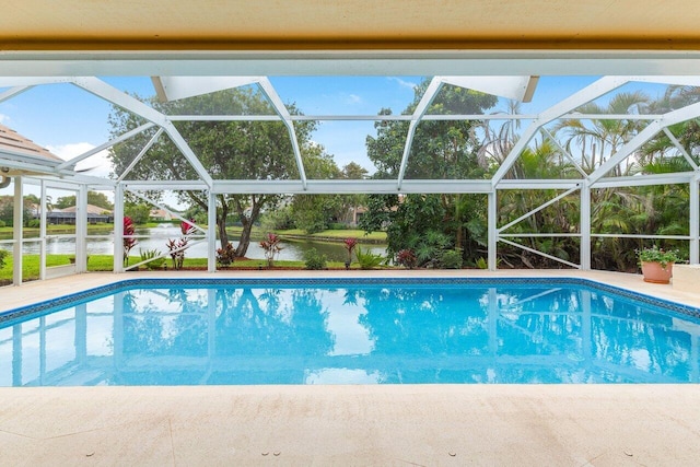
[(698, 383), (700, 311), (584, 280), (132, 280), (0, 316), (0, 385)]

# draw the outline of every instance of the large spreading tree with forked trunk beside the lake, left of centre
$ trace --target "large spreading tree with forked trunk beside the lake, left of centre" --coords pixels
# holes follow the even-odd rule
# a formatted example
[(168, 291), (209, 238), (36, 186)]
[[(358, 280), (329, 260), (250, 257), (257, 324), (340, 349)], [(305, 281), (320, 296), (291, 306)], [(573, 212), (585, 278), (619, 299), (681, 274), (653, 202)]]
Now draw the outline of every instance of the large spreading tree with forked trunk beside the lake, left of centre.
[[(154, 97), (148, 103), (168, 115), (269, 115), (275, 109), (256, 89), (220, 91), (182, 101), (160, 103)], [(300, 114), (288, 105), (291, 114)], [(140, 118), (115, 107), (109, 118), (113, 136), (141, 125)], [(288, 179), (299, 177), (292, 143), (281, 121), (178, 121), (177, 130), (214, 179)], [(302, 150), (310, 144), (314, 121), (295, 122), (296, 137)], [(115, 173), (122, 173), (154, 133), (144, 131), (110, 151)], [(194, 168), (179, 150), (165, 137), (149, 150), (137, 164), (130, 177), (141, 179), (197, 179)], [(180, 200), (208, 211), (208, 200), (201, 191), (185, 191)], [(250, 232), (260, 212), (278, 203), (279, 195), (218, 195), (217, 226), (222, 247), (229, 244), (225, 226), (231, 213), (243, 224), (236, 256), (245, 256)]]

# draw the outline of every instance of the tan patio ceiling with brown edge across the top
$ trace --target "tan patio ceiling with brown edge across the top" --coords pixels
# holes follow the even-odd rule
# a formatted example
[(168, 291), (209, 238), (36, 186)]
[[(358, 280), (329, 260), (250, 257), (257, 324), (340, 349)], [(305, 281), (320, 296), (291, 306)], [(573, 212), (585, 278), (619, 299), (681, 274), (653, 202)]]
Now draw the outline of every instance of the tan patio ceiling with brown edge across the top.
[(698, 50), (685, 0), (23, 0), (2, 50)]

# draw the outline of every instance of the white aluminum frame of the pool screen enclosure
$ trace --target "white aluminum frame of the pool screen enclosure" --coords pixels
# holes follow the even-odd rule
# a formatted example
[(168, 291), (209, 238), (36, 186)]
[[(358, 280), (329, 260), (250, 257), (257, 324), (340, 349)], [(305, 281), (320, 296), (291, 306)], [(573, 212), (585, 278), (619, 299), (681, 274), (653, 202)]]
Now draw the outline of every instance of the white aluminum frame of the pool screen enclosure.
[[(26, 60), (26, 57), (32, 57)], [(108, 60), (97, 58), (100, 54), (85, 56), (80, 52), (50, 52), (36, 56), (35, 52), (1, 52), (0, 63), (3, 65), (5, 77), (0, 77), (0, 87), (9, 87), (0, 93), (0, 102), (32, 89), (33, 86), (51, 83), (70, 83), (89, 93), (98, 96), (114, 105), (120, 106), (128, 112), (139, 115), (148, 120), (148, 124), (136, 128), (120, 137), (107, 141), (97, 148), (88, 151), (77, 157), (62, 163), (47, 162), (37, 157), (28, 157), (25, 154), (14, 151), (0, 151), (0, 165), (8, 165), (19, 171), (28, 171), (28, 176), (36, 176), (40, 179), (63, 179), (71, 183), (79, 190), (80, 203), (86, 198), (86, 190), (92, 187), (108, 187), (115, 190), (115, 221), (124, 215), (122, 198), (126, 190), (168, 190), (168, 189), (194, 189), (206, 190), (210, 205), (209, 223), (213, 225), (215, 218), (212, 211), (215, 207), (215, 195), (220, 194), (429, 194), (429, 192), (451, 192), (451, 194), (486, 194), (488, 195), (488, 265), (489, 269), (497, 269), (498, 243), (513, 244), (508, 240), (509, 234), (503, 232), (509, 226), (525, 219), (547, 206), (556, 202), (563, 196), (571, 195), (580, 190), (581, 196), (581, 226), (580, 233), (573, 234), (581, 237), (581, 264), (574, 265), (562, 261), (571, 267), (581, 269), (591, 268), (591, 238), (602, 236), (591, 232), (591, 189), (620, 186), (644, 186), (658, 184), (685, 184), (690, 186), (690, 234), (684, 236), (652, 236), (644, 235), (645, 238), (681, 238), (690, 243), (690, 262), (700, 262), (700, 208), (699, 187), (700, 167), (682, 149), (680, 143), (673, 137), (668, 127), (680, 121), (700, 117), (700, 104), (689, 105), (677, 110), (663, 115), (580, 115), (573, 113), (583, 104), (590, 103), (606, 93), (609, 93), (629, 82), (662, 82), (667, 84), (700, 85), (700, 52), (685, 52), (681, 55), (669, 55), (668, 52), (595, 52), (592, 56), (581, 52), (549, 52), (548, 55), (532, 55), (528, 51), (521, 52), (424, 52), (418, 56), (404, 55), (401, 52), (389, 54), (375, 52), (332, 52), (330, 55), (318, 56), (314, 51), (308, 52), (285, 52), (284, 58), (271, 57), (265, 52), (246, 56), (236, 52), (198, 52), (189, 57), (187, 54), (178, 54), (176, 60), (164, 60), (159, 52), (126, 52), (119, 57), (109, 57)], [(144, 61), (144, 57), (148, 59)], [(505, 60), (510, 57), (510, 60)], [(57, 67), (57, 65), (60, 65)], [(293, 67), (292, 67), (293, 66)], [(232, 68), (233, 67), (233, 68)], [(277, 94), (270, 81), (260, 75), (260, 71), (284, 70), (285, 67), (293, 68), (293, 74), (401, 74), (408, 69), (410, 73), (417, 71), (432, 70), (432, 74), (438, 71), (442, 75), (435, 75), (430, 82), (427, 92), (419, 102), (412, 115), (357, 115), (357, 116), (294, 116), (290, 115)], [(534, 68), (535, 67), (535, 68)], [(66, 69), (71, 69), (79, 74), (77, 77), (65, 77)], [(133, 71), (138, 69), (140, 73)], [(182, 71), (197, 70), (197, 77), (189, 78), (188, 73)], [(228, 77), (228, 73), (235, 77)], [(360, 73), (360, 70), (372, 70), (371, 73)], [(470, 73), (469, 75), (467, 74)], [(499, 70), (498, 75), (491, 75), (493, 70)], [(60, 70), (60, 71), (59, 71)], [(270, 101), (277, 115), (266, 116), (167, 116), (147, 104), (131, 97), (128, 94), (108, 85), (104, 81), (95, 78), (98, 74), (162, 74), (161, 71), (168, 70), (170, 78), (156, 79), (156, 90), (162, 98), (182, 98), (186, 96), (202, 94), (217, 90), (235, 87), (247, 84), (257, 84)], [(252, 71), (255, 70), (255, 73)], [(390, 71), (388, 71), (390, 70)], [(491, 71), (488, 73), (487, 70)], [(510, 97), (524, 98), (532, 93), (532, 78), (539, 74), (587, 74), (592, 70), (600, 71), (622, 71), (635, 70), (641, 75), (606, 75), (591, 85), (582, 89), (563, 101), (552, 105), (550, 108), (538, 115), (427, 115), (430, 104), (444, 84), (469, 86), (471, 89), (485, 90), (493, 94)], [(660, 70), (662, 75), (656, 75)], [(97, 72), (100, 71), (100, 72)], [(202, 74), (203, 73), (203, 74)], [(250, 74), (248, 74), (250, 73)], [(459, 75), (464, 73), (465, 75)], [(686, 73), (686, 75), (680, 75)], [(90, 74), (90, 75), (89, 75)], [(94, 74), (94, 75), (93, 75)], [(210, 74), (210, 75), (209, 75)], [(266, 73), (267, 74), (267, 73)], [(275, 72), (269, 74), (276, 74)], [(288, 72), (287, 74), (292, 74)], [(420, 73), (419, 73), (420, 74)], [(651, 75), (655, 74), (655, 75)], [(160, 81), (159, 81), (160, 80)], [(160, 87), (159, 87), (160, 86)], [(625, 118), (644, 119), (651, 122), (641, 130), (631, 141), (620, 148), (617, 153), (608, 157), (592, 174), (586, 174), (575, 159), (563, 148), (559, 147), (562, 153), (574, 163), (581, 178), (576, 179), (547, 179), (547, 180), (523, 180), (506, 179), (505, 175), (520, 157), (522, 151), (532, 143), (533, 139), (540, 135), (542, 138), (555, 141), (546, 129), (546, 125), (559, 118), (595, 119), (595, 118)], [(293, 155), (299, 168), (300, 177), (296, 180), (218, 180), (207, 172), (197, 154), (191, 150), (182, 135), (177, 131), (174, 121), (180, 120), (277, 120), (282, 121), (288, 130), (293, 148)], [(470, 120), (470, 119), (530, 119), (529, 126), (522, 132), (520, 139), (514, 144), (511, 152), (505, 156), (494, 176), (490, 180), (445, 180), (445, 179), (405, 179), (411, 150), (412, 137), (417, 126), (422, 120)], [(317, 180), (307, 179), (305, 167), (301, 157), (299, 141), (294, 131), (294, 121), (302, 120), (405, 120), (409, 121), (409, 129), (404, 148), (399, 173), (394, 180)], [(119, 174), (117, 179), (102, 179), (77, 173), (73, 168), (75, 164), (84, 161), (97, 152), (108, 149), (116, 143), (126, 141), (136, 135), (150, 128), (158, 128), (156, 133), (141, 150), (137, 159)], [(691, 171), (678, 174), (665, 174), (656, 176), (635, 177), (605, 177), (606, 174), (627, 157), (631, 156), (642, 144), (655, 137), (658, 132), (665, 132), (676, 147), (676, 149), (688, 161)], [(197, 173), (198, 180), (185, 182), (158, 182), (158, 180), (131, 180), (128, 175), (135, 164), (148, 152), (151, 145), (163, 135), (175, 143), (183, 156), (189, 162)], [(556, 142), (556, 141), (555, 141)], [(557, 142), (556, 142), (557, 143)], [(557, 143), (558, 144), (558, 143)], [(15, 191), (22, 192), (21, 178), (15, 178)], [(547, 201), (540, 207), (533, 209), (508, 225), (499, 227), (498, 219), (498, 191), (503, 189), (562, 189), (563, 195)], [(80, 207), (79, 207), (80, 210)], [(15, 217), (16, 217), (15, 210)], [(44, 222), (43, 222), (44, 223)], [(84, 237), (84, 229), (81, 225), (78, 237)], [(15, 233), (16, 235), (16, 233)], [(19, 233), (21, 240), (21, 232)], [(208, 269), (215, 270), (215, 233), (213, 229), (205, 232), (208, 242)], [(544, 234), (530, 233), (530, 236), (541, 236)], [(548, 234), (550, 235), (550, 234)], [(555, 235), (571, 235), (568, 233)], [(121, 240), (124, 232), (120, 222), (115, 222), (115, 264), (116, 272), (122, 271), (121, 267)], [(520, 236), (525, 236), (521, 234)], [(16, 236), (15, 236), (16, 240)], [(79, 242), (82, 243), (82, 242)], [(15, 242), (16, 245), (20, 242)], [(523, 247), (522, 245), (516, 245)], [(83, 248), (84, 249), (84, 248)], [(529, 249), (529, 248), (525, 248)], [(541, 252), (533, 252), (549, 257)], [(78, 256), (78, 255), (77, 255)], [(79, 271), (84, 270), (84, 261), (80, 255)], [(78, 258), (77, 258), (78, 259)], [(559, 260), (550, 257), (550, 259)], [(21, 260), (16, 261), (21, 268)], [(78, 261), (77, 261), (78, 264)], [(15, 266), (16, 268), (16, 266)], [(43, 272), (45, 275), (45, 271)], [(15, 271), (15, 283), (18, 283)], [(21, 282), (21, 272), (20, 272)]]

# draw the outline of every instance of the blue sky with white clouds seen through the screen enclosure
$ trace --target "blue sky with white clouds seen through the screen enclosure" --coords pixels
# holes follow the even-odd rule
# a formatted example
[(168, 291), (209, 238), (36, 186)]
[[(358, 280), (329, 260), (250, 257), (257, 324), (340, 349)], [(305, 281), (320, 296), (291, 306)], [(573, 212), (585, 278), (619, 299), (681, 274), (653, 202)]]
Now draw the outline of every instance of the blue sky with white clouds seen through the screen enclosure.
[[(102, 78), (122, 91), (150, 96), (151, 79)], [(294, 103), (306, 115), (376, 115), (382, 108), (401, 113), (413, 100), (422, 77), (270, 77), (282, 102)], [(594, 82), (597, 77), (542, 77), (524, 114), (541, 112)], [(645, 85), (653, 97), (663, 89)], [(0, 91), (2, 91), (0, 89)], [(0, 103), (0, 124), (55, 154), (70, 159), (109, 139), (110, 104), (71, 84), (36, 86)], [(493, 110), (506, 110), (504, 100)], [(312, 136), (335, 156), (339, 167), (357, 162), (374, 172), (366, 157), (365, 138), (375, 135), (373, 121), (323, 121)], [(81, 163), (91, 175), (109, 173), (106, 153)], [(7, 189), (5, 189), (7, 191)], [(0, 195), (3, 192), (0, 191)]]

